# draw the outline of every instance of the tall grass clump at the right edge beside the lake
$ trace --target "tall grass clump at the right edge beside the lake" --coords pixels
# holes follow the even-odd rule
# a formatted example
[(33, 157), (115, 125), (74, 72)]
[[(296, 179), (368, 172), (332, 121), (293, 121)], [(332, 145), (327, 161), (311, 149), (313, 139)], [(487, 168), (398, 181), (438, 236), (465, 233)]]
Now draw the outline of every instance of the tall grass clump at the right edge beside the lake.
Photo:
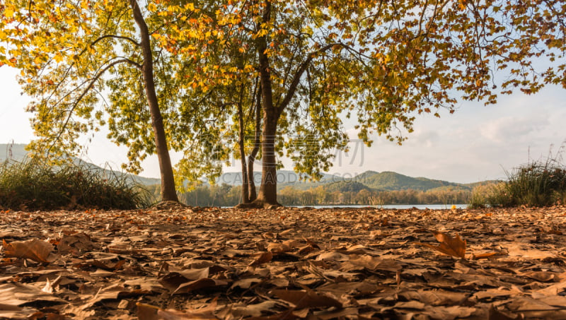
[(560, 155), (506, 172), (507, 182), (476, 187), (468, 208), (566, 204), (566, 167)]

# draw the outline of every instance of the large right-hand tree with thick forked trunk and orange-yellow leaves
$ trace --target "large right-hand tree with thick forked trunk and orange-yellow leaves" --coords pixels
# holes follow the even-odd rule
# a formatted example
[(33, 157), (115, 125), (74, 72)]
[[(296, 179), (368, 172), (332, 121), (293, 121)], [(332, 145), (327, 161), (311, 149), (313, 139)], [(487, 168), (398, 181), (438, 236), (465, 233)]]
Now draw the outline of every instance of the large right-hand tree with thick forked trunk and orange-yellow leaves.
[[(566, 87), (564, 1), (257, 0), (216, 8), (224, 43), (237, 34), (258, 57), (256, 206), (277, 204), (277, 150), (287, 148), (295, 170), (311, 177), (328, 167), (325, 150), (346, 147), (341, 117), (356, 117), (368, 144), (373, 133), (401, 143), (401, 129), (411, 132), (418, 114), (454, 112), (459, 100), (492, 104), (514, 88)], [(537, 70), (535, 58), (551, 67)], [(507, 78), (497, 82), (495, 71)]]

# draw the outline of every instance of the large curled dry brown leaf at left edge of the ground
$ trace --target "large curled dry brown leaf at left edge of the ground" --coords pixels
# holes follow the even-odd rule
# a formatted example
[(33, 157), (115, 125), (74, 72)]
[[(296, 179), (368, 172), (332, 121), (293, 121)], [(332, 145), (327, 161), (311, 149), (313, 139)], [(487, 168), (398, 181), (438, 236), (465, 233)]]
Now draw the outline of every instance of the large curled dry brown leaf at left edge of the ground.
[(53, 245), (39, 239), (30, 239), (27, 241), (13, 241), (7, 243), (2, 239), (4, 245), (4, 256), (31, 259), (37, 262), (50, 263), (57, 259), (57, 256), (52, 254)]

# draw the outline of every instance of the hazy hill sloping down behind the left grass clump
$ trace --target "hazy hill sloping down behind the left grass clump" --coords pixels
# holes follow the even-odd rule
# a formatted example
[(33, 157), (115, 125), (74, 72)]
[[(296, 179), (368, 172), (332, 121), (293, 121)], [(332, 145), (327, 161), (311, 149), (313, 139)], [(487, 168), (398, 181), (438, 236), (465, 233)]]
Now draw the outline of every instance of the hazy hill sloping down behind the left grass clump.
[[(14, 160), (14, 161), (18, 161), (21, 162), (25, 159), (25, 157), (28, 155), (28, 151), (25, 150), (25, 144), (21, 144), (21, 143), (13, 143), (13, 144), (5, 144), (5, 143), (0, 143), (0, 162), (4, 162), (5, 160)], [(151, 186), (153, 184), (161, 184), (161, 179), (156, 179), (156, 178), (148, 178), (148, 177), (141, 177), (139, 175), (136, 174), (128, 174), (128, 173), (122, 173), (120, 171), (117, 170), (112, 170), (112, 168), (103, 168), (103, 167), (99, 167), (98, 165), (93, 165), (90, 162), (86, 162), (84, 160), (81, 160), (79, 158), (74, 158), (73, 157), (73, 162), (76, 165), (81, 165), (83, 167), (88, 168), (88, 170), (96, 170), (96, 171), (100, 171), (103, 172), (104, 174), (108, 174), (108, 175), (116, 175), (117, 177), (120, 177), (122, 174), (125, 174), (129, 179), (132, 179), (134, 182), (137, 182), (139, 184), (143, 184), (145, 186)]]

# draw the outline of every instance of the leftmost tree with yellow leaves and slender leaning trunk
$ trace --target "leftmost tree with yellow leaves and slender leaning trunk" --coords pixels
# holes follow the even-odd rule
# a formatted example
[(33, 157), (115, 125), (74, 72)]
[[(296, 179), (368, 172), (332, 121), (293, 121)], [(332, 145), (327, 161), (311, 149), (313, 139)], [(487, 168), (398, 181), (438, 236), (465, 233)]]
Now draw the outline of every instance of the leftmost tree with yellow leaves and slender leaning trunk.
[[(73, 153), (81, 147), (76, 138), (105, 125), (107, 112), (109, 137), (129, 147), (129, 170), (139, 172), (140, 160), (156, 153), (162, 199), (178, 201), (168, 151), (175, 129), (168, 119), (175, 110), (162, 107), (177, 97), (165, 94), (171, 86), (163, 73), (171, 71), (154, 69), (170, 60), (151, 40), (150, 28), (173, 32), (177, 26), (169, 28), (171, 21), (163, 18), (168, 15), (158, 10), (175, 11), (179, 20), (190, 21), (187, 29), (201, 21), (192, 6), (148, 8), (136, 0), (7, 1), (0, 5), (0, 39), (6, 44), (0, 66), (21, 69), (23, 90), (33, 97), (28, 110), (40, 139), (30, 148), (41, 155)], [(100, 107), (104, 90), (110, 90), (110, 103)]]

